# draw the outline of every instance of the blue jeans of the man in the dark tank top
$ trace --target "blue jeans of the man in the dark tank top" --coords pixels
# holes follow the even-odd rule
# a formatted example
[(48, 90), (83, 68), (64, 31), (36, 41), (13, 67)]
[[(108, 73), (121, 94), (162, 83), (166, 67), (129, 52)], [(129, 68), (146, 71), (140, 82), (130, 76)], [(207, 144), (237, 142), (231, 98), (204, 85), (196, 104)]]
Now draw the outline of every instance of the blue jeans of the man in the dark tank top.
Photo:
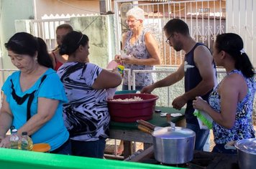
[(198, 125), (191, 123), (187, 123), (186, 127), (196, 132), (195, 150), (203, 150), (204, 144), (206, 143), (209, 135), (209, 130), (201, 130)]

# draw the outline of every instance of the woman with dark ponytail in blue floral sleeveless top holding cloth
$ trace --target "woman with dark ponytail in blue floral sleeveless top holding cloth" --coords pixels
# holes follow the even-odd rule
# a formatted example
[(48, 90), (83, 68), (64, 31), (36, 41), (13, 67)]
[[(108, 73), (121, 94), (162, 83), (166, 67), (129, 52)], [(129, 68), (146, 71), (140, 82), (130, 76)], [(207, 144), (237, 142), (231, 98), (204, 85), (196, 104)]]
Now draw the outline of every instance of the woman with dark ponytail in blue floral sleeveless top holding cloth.
[(193, 107), (208, 113), (213, 122), (214, 152), (237, 153), (229, 149), (237, 140), (255, 137), (252, 126), (255, 72), (238, 34), (219, 34), (214, 43), (214, 62), (224, 67), (227, 76), (211, 92), (209, 105), (200, 97)]

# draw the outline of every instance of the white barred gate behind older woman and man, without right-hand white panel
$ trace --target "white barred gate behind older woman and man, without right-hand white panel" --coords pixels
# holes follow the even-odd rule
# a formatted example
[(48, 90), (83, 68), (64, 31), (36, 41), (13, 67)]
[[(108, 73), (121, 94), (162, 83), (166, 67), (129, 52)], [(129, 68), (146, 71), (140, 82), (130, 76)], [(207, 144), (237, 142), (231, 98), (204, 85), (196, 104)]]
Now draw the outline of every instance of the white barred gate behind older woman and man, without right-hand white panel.
[[(139, 2), (139, 3), (138, 3)], [(116, 0), (114, 4), (116, 14), (116, 37), (121, 42), (121, 35), (126, 32), (125, 13), (132, 6), (139, 6), (145, 11), (145, 27), (151, 29), (160, 49), (161, 64), (179, 65), (183, 52), (175, 52), (165, 43), (163, 26), (173, 18), (186, 21), (191, 36), (198, 42), (203, 42), (212, 49), (217, 34), (226, 30), (226, 1), (198, 0), (198, 1), (168, 1), (160, 3), (145, 3), (145, 1)], [(119, 51), (120, 47), (116, 47)]]

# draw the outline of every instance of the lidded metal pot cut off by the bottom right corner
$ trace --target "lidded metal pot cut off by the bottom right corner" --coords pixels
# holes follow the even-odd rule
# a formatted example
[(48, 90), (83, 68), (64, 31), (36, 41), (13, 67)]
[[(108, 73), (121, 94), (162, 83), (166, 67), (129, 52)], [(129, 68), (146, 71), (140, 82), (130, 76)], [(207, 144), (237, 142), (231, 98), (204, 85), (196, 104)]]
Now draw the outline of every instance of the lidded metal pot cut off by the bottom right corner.
[(239, 168), (255, 168), (256, 138), (239, 140), (234, 146), (237, 148)]

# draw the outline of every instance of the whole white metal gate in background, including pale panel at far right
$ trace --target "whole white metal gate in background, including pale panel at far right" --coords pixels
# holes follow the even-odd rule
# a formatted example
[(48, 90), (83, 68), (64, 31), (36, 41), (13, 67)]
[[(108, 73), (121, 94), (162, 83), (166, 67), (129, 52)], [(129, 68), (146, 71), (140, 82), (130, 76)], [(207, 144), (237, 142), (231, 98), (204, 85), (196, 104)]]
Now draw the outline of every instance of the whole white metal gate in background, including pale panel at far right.
[[(166, 1), (160, 3), (145, 1), (114, 1), (116, 14), (116, 37), (121, 42), (121, 34), (127, 31), (124, 27), (125, 13), (132, 6), (139, 6), (145, 11), (145, 26), (152, 28), (161, 54), (161, 64), (178, 65), (183, 53), (175, 52), (165, 44), (163, 26), (173, 18), (186, 21), (191, 36), (212, 49), (217, 34), (235, 32), (244, 40), (244, 49), (252, 63), (256, 65), (256, 9), (254, 0), (197, 0), (197, 1)], [(165, 0), (159, 0), (165, 1)], [(147, 1), (148, 2), (148, 1)], [(227, 12), (227, 13), (226, 13)], [(119, 51), (120, 47), (116, 47)]]

